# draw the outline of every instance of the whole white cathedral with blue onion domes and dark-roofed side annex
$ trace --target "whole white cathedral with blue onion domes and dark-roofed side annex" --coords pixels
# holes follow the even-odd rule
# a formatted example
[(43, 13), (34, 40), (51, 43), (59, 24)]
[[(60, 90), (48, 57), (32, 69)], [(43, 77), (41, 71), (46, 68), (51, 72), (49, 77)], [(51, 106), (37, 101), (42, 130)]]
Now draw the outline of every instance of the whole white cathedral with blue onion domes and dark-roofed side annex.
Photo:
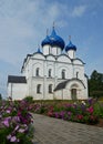
[(52, 28), (33, 54), (27, 54), (22, 75), (8, 75), (8, 96), (21, 100), (86, 100), (87, 76), (84, 62), (75, 58), (76, 47), (64, 40)]

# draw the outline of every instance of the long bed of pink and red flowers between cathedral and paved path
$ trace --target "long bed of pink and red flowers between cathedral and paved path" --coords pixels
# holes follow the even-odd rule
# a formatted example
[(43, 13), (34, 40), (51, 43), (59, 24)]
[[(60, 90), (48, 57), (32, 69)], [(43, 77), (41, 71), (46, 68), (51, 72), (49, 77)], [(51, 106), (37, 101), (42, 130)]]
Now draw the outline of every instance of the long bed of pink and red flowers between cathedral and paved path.
[(86, 124), (97, 124), (103, 117), (103, 105), (94, 99), (74, 103), (37, 103), (31, 105), (34, 113)]

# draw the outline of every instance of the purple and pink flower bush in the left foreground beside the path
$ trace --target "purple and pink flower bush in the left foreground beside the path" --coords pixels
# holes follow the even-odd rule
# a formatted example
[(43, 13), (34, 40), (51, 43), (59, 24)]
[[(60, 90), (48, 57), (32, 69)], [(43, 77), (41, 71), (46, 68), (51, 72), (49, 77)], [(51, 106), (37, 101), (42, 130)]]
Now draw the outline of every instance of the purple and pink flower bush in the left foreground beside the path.
[(25, 101), (13, 102), (9, 99), (0, 102), (0, 144), (32, 144), (33, 119), (28, 107)]

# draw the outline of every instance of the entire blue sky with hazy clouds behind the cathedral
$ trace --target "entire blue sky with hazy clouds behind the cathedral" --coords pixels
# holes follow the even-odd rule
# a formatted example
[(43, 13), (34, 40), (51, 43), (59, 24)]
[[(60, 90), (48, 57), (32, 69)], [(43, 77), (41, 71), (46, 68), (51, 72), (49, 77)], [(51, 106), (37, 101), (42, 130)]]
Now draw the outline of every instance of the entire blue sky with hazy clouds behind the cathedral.
[(34, 53), (53, 21), (65, 44), (76, 45), (85, 73), (103, 73), (103, 0), (0, 0), (0, 93), (8, 75), (20, 75), (27, 54)]

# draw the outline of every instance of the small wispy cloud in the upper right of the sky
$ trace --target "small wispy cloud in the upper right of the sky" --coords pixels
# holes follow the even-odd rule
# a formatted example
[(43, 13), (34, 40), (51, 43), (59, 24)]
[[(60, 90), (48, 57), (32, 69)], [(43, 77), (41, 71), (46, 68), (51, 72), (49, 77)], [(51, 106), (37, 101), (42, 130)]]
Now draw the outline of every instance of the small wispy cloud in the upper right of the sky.
[(75, 6), (71, 12), (71, 17), (82, 17), (86, 10), (86, 6)]

